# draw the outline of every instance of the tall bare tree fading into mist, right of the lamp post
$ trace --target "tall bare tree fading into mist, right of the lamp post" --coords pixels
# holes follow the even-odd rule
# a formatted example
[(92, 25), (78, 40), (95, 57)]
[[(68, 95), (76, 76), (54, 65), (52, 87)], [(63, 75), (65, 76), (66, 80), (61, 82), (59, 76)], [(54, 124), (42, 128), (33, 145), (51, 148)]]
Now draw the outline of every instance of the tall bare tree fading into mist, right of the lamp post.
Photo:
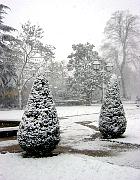
[(139, 57), (138, 17), (129, 11), (116, 11), (107, 22), (104, 33), (103, 56), (106, 60), (114, 61), (121, 77), (122, 95), (126, 99), (125, 68), (128, 63), (134, 65)]

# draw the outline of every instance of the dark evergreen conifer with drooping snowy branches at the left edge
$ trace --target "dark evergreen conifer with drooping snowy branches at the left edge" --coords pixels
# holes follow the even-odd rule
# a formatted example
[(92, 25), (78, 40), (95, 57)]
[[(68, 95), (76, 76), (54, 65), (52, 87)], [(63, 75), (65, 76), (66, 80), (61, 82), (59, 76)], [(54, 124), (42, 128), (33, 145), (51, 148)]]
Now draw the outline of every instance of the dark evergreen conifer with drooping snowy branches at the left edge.
[(12, 49), (9, 48), (9, 43), (15, 40), (11, 35), (11, 32), (15, 29), (3, 22), (7, 9), (9, 7), (0, 4), (0, 87), (3, 93), (12, 77), (16, 75), (14, 63), (10, 60)]

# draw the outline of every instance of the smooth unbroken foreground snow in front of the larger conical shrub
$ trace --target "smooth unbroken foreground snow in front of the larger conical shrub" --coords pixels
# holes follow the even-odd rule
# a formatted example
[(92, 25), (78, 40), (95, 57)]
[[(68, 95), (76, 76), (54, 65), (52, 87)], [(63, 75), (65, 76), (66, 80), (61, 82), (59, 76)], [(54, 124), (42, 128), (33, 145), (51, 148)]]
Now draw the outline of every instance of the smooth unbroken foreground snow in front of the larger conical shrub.
[(22, 158), (0, 154), (0, 180), (139, 180), (140, 170), (100, 162), (86, 155)]

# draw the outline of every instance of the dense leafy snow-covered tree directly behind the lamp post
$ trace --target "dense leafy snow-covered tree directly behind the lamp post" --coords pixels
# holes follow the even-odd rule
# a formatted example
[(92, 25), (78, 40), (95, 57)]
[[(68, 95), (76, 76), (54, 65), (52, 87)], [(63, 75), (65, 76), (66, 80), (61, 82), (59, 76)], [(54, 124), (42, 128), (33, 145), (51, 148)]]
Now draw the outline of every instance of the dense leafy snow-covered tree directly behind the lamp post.
[(92, 96), (97, 88), (102, 88), (102, 71), (94, 69), (94, 61), (102, 60), (98, 53), (93, 50), (94, 45), (90, 43), (72, 45), (73, 53), (68, 56), (69, 89), (75, 97), (84, 99), (91, 104)]

